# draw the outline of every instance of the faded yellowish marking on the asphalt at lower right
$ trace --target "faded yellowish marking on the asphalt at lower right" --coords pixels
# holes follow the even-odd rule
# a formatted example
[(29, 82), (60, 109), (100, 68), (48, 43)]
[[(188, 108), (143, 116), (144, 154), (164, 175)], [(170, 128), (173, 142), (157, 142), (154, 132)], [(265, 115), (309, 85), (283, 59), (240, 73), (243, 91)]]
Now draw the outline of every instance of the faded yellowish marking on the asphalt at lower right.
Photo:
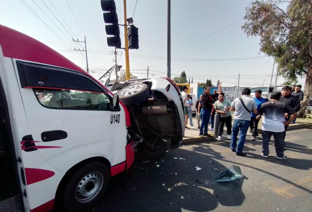
[[(297, 197), (297, 196), (301, 196), (303, 194), (305, 194), (307, 191), (302, 192), (302, 189), (299, 188), (298, 186), (301, 186), (305, 183), (308, 183), (312, 181), (312, 177), (308, 176), (308, 177), (303, 177), (300, 178), (298, 180), (296, 180), (295, 182), (293, 182), (293, 184), (284, 186), (284, 187), (278, 187), (278, 186), (273, 186), (273, 187), (269, 187), (272, 191), (274, 191), (275, 193), (277, 193), (278, 195), (284, 197), (285, 199), (291, 199), (293, 197)], [(266, 182), (264, 184), (268, 184), (270, 182)], [(307, 190), (309, 190), (309, 188), (306, 188)], [(300, 191), (299, 191), (300, 190)]]

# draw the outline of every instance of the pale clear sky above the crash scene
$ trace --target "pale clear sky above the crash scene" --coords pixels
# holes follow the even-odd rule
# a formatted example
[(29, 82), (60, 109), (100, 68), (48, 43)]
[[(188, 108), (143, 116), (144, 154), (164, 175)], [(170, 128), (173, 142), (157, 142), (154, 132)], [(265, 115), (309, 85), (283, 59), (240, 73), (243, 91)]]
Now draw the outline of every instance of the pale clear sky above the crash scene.
[[(123, 1), (115, 2), (123, 24)], [(171, 0), (172, 77), (185, 71), (193, 82), (211, 79), (216, 84), (220, 79), (222, 86), (234, 86), (240, 74), (240, 86), (269, 84), (273, 58), (260, 53), (258, 37), (247, 38), (241, 30), (250, 2)], [(0, 0), (0, 5), (0, 24), (32, 36), (84, 69), (85, 53), (74, 50), (82, 47), (72, 38), (83, 41), (86, 36), (89, 70), (95, 78), (114, 65), (100, 0)], [(150, 78), (166, 76), (167, 0), (127, 0), (127, 17), (133, 17), (139, 28), (139, 49), (129, 50), (130, 72), (143, 78), (149, 66)], [(120, 35), (124, 46), (122, 26)], [(123, 71), (124, 51), (117, 51)], [(283, 81), (278, 77), (277, 84)], [(304, 79), (299, 78), (299, 83), (304, 85)]]

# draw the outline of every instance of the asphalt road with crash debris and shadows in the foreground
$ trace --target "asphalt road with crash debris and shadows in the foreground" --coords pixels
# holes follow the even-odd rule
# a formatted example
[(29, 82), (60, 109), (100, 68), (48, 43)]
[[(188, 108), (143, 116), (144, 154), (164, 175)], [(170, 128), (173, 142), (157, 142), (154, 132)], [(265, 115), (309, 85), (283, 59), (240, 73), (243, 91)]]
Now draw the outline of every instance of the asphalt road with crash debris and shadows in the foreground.
[[(272, 145), (263, 158), (261, 137), (249, 136), (244, 157), (229, 149), (228, 140), (183, 146), (146, 163), (137, 155), (90, 211), (311, 211), (312, 128), (288, 131), (285, 141), (287, 160), (276, 159)], [(231, 164), (241, 167), (244, 178), (214, 182), (219, 172), (213, 168)]]

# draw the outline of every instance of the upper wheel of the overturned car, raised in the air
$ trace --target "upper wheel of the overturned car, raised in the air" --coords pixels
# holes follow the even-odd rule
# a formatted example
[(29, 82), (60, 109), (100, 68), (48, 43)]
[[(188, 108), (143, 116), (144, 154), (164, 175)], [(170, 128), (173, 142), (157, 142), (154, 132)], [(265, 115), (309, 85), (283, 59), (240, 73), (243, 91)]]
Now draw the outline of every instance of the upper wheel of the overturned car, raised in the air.
[(138, 104), (149, 97), (149, 87), (144, 83), (129, 85), (119, 90), (118, 95), (125, 105)]

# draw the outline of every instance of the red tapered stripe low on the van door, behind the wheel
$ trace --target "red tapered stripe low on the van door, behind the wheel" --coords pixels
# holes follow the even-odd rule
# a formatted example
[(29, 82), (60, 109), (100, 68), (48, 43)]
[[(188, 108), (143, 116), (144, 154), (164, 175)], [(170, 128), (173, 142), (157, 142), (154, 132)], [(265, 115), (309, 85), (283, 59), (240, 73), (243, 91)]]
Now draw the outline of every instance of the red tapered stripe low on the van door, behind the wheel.
[(25, 175), (27, 185), (30, 185), (32, 183), (48, 179), (55, 175), (55, 173), (50, 170), (40, 168), (25, 168)]

